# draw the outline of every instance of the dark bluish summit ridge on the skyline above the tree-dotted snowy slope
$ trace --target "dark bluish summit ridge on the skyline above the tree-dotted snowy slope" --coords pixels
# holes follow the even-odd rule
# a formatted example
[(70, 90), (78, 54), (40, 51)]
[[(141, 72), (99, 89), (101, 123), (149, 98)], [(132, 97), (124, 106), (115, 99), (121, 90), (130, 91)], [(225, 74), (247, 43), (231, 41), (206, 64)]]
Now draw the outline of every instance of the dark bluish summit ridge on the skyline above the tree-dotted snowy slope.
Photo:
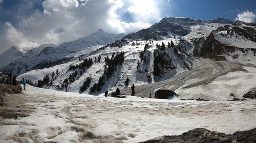
[(232, 24), (233, 21), (217, 18), (214, 20), (198, 20), (187, 17), (169, 17), (163, 18), (160, 22), (153, 24), (151, 27), (138, 31), (136, 33), (125, 36), (129, 39), (142, 39), (142, 40), (159, 40), (162, 36), (168, 36), (168, 34), (186, 36), (191, 33), (191, 26), (195, 25), (210, 25), (216, 24)]

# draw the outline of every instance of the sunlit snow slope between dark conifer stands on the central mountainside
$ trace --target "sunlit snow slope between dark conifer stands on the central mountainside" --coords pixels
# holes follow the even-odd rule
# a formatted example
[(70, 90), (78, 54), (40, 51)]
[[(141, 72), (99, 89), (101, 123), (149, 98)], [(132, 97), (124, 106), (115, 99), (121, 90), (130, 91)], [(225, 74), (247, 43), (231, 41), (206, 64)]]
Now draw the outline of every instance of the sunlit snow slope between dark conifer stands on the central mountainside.
[[(182, 60), (182, 59), (178, 58), (178, 55), (176, 55), (174, 53), (173, 48), (167, 48), (167, 43), (170, 42), (171, 40), (174, 41), (176, 46), (178, 44), (180, 44), (180, 45), (183, 45), (187, 50), (191, 49), (191, 45), (189, 43), (186, 43), (183, 40), (178, 40), (178, 39), (174, 39), (174, 38), (167, 38), (167, 39), (161, 40), (161, 41), (154, 41), (154, 43), (151, 43), (151, 44), (149, 41), (137, 41), (140, 44), (137, 46), (132, 44), (134, 41), (130, 41), (128, 44), (125, 44), (122, 47), (108, 46), (108, 47), (105, 47), (104, 49), (98, 50), (96, 53), (94, 53), (95, 50), (100, 48), (100, 46), (95, 46), (95, 47), (91, 47), (90, 50), (84, 49), (84, 50), (80, 50), (79, 52), (69, 55), (69, 56), (74, 57), (74, 59), (78, 59), (78, 57), (81, 57), (81, 55), (87, 55), (87, 56), (82, 57), (80, 59), (81, 61), (74, 60), (72, 62), (60, 64), (60, 65), (50, 67), (50, 68), (29, 71), (29, 72), (26, 72), (26, 73), (18, 76), (18, 79), (25, 77), (27, 79), (31, 79), (33, 82), (37, 82), (37, 80), (39, 80), (39, 79), (42, 80), (42, 78), (46, 74), (51, 76), (52, 72), (55, 72), (58, 69), (59, 74), (58, 74), (58, 76), (56, 76), (56, 79), (54, 79), (53, 85), (51, 85), (50, 87), (49, 86), (45, 87), (45, 88), (58, 90), (57, 87), (58, 86), (61, 87), (61, 84), (63, 84), (63, 80), (68, 78), (71, 73), (75, 72), (75, 70), (71, 70), (71, 71), (68, 70), (70, 65), (76, 65), (76, 64), (79, 65), (79, 63), (81, 63), (82, 60), (84, 60), (85, 58), (87, 58), (87, 59), (90, 58), (90, 59), (94, 60), (95, 58), (98, 58), (99, 55), (101, 55), (102, 60), (100, 61), (100, 63), (98, 61), (94, 62), (92, 67), (87, 68), (86, 71), (84, 71), (81, 76), (80, 75), (77, 76), (77, 79), (74, 82), (69, 83), (69, 91), (78, 93), (83, 81), (87, 77), (89, 77), (89, 76), (92, 77), (91, 86), (94, 83), (98, 82), (99, 77), (102, 76), (102, 74), (104, 73), (104, 66), (105, 66), (104, 59), (106, 58), (106, 56), (109, 56), (111, 58), (112, 53), (114, 53), (114, 52), (117, 53), (117, 52), (123, 51), (125, 53), (124, 54), (124, 63), (121, 66), (116, 68), (113, 76), (110, 79), (105, 80), (105, 85), (103, 85), (101, 91), (96, 92), (96, 93), (91, 93), (90, 88), (88, 88), (88, 90), (84, 93), (98, 95), (100, 93), (103, 93), (106, 90), (114, 91), (117, 87), (119, 89), (126, 88), (127, 86), (124, 85), (124, 81), (126, 80), (126, 77), (130, 79), (128, 87), (131, 86), (131, 84), (133, 84), (133, 83), (135, 83), (135, 85), (147, 84), (148, 83), (148, 78), (147, 78), (148, 75), (152, 76), (152, 81), (150, 83), (154, 83), (155, 81), (166, 80), (170, 77), (174, 77), (175, 75), (188, 70), (184, 65), (184, 61), (188, 65), (191, 64), (190, 65), (191, 68), (196, 66), (193, 64), (196, 63), (196, 61), (197, 61), (194, 58), (194, 56), (190, 55), (185, 50), (183, 51), (182, 49), (180, 52), (181, 52), (181, 54), (184, 54), (184, 55), (182, 55), (182, 56), (184, 56), (184, 59)], [(164, 73), (161, 77), (154, 78), (154, 74), (153, 74), (154, 50), (156, 49), (156, 44), (161, 45), (162, 42), (164, 42), (164, 44), (166, 45), (166, 50), (164, 50), (164, 51), (171, 56), (173, 65), (175, 65), (176, 68), (174, 70), (165, 69), (163, 71)], [(147, 49), (147, 52), (145, 55), (150, 54), (150, 56), (148, 56), (147, 62), (139, 62), (140, 66), (137, 67), (137, 62), (141, 61), (140, 57), (139, 57), (140, 52), (144, 50), (144, 46), (146, 43), (150, 45), (150, 48)], [(185, 54), (185, 52), (187, 55)], [(94, 53), (94, 54), (90, 54), (90, 53)], [(145, 71), (145, 70), (147, 70), (147, 71)], [(77, 70), (77, 71), (79, 73), (79, 70)], [(65, 89), (61, 89), (61, 90), (65, 90)]]

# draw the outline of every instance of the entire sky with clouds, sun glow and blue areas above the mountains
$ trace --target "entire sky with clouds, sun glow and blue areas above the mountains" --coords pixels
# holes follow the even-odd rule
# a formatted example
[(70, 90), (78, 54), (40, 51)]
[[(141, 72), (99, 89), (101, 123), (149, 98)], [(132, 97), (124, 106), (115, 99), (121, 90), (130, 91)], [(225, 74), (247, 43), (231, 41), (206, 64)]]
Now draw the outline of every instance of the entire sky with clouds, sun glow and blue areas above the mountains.
[(102, 28), (129, 33), (163, 17), (255, 22), (255, 0), (0, 0), (0, 52), (59, 44)]

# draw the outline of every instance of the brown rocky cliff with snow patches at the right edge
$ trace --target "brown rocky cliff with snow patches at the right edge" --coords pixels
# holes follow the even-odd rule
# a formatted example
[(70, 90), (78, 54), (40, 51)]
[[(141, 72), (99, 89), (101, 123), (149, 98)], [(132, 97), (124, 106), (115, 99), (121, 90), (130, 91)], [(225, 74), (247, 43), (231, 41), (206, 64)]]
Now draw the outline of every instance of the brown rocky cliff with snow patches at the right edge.
[[(196, 39), (193, 42), (197, 44), (198, 41)], [(194, 50), (194, 55), (214, 60), (225, 60), (225, 57), (238, 59), (239, 55), (250, 54), (256, 54), (256, 27), (253, 24), (221, 26)]]

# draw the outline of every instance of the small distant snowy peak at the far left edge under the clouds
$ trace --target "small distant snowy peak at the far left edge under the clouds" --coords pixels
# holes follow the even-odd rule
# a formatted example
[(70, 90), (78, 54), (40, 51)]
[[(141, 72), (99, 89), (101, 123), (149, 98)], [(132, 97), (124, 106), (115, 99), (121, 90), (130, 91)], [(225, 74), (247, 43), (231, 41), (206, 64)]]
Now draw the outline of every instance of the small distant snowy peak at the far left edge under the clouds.
[(8, 50), (0, 54), (0, 69), (11, 62), (21, 58), (25, 52), (17, 46), (12, 46)]

